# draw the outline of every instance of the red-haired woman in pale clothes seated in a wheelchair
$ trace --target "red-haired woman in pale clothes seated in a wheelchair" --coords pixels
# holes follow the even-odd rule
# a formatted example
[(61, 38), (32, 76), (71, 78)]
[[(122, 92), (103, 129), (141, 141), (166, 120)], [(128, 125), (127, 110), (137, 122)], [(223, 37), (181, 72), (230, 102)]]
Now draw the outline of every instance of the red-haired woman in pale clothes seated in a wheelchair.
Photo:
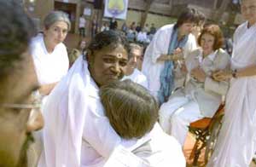
[(160, 125), (182, 145), (188, 126), (201, 118), (212, 118), (229, 84), (212, 79), (212, 72), (230, 67), (230, 56), (220, 49), (223, 35), (217, 25), (205, 27), (198, 38), (200, 49), (186, 58), (189, 81), (160, 107)]

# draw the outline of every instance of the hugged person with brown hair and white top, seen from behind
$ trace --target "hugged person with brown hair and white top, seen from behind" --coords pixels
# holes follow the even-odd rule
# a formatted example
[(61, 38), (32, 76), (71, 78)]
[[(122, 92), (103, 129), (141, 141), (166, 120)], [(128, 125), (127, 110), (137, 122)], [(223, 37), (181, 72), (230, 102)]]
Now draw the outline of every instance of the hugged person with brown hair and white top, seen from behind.
[(131, 150), (137, 158), (148, 166), (185, 166), (180, 145), (157, 124), (158, 104), (147, 89), (127, 79), (102, 86), (100, 97), (109, 123), (124, 140), (148, 135), (147, 141), (138, 143)]

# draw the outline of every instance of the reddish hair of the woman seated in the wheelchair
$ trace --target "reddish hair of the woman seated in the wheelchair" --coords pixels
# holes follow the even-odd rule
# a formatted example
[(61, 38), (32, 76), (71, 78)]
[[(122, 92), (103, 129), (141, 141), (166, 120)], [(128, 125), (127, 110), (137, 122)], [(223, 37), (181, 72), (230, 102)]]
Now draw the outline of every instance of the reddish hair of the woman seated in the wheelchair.
[(206, 26), (202, 31), (200, 36), (197, 39), (197, 43), (201, 46), (201, 37), (204, 34), (210, 34), (214, 37), (214, 44), (212, 49), (217, 50), (220, 49), (224, 43), (224, 37), (221, 29), (219, 28), (218, 25), (209, 25)]

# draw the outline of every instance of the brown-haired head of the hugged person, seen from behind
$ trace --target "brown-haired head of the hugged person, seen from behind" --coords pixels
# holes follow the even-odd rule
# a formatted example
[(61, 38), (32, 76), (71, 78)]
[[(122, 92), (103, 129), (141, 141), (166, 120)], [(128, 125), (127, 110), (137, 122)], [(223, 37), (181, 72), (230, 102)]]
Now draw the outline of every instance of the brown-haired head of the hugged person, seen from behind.
[(143, 137), (158, 119), (154, 97), (129, 79), (103, 86), (100, 96), (113, 130), (125, 139)]

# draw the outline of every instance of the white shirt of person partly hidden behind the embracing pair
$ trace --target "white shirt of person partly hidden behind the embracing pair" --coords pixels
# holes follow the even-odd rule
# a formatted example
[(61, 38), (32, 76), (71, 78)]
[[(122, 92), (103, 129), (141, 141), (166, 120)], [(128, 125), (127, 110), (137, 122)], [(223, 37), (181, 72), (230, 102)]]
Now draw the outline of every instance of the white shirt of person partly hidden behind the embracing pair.
[(144, 88), (148, 89), (148, 79), (143, 74), (143, 72), (140, 72), (137, 70), (137, 68), (134, 69), (134, 71), (129, 76), (125, 76), (122, 80), (125, 79), (131, 79), (134, 83), (138, 83), (142, 85)]

